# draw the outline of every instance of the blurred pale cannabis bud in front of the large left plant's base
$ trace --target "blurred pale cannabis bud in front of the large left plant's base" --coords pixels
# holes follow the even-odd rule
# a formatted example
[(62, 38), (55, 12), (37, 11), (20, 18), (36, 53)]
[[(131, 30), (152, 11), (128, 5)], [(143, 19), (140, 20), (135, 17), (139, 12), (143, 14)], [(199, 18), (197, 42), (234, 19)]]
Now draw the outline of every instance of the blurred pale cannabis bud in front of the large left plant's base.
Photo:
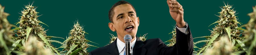
[(49, 48), (44, 48), (44, 43), (38, 41), (36, 37), (29, 37), (24, 45), (25, 50), (21, 55), (53, 55)]

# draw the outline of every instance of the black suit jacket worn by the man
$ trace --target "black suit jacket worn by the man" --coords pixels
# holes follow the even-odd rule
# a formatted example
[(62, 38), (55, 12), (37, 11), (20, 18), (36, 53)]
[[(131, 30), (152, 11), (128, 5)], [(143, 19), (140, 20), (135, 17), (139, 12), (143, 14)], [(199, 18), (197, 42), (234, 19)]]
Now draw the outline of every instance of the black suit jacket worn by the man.
[[(166, 46), (159, 38), (141, 41), (136, 37), (133, 55), (192, 55), (194, 45), (189, 27), (188, 31), (189, 33), (186, 35), (176, 29), (176, 44), (170, 47)], [(116, 40), (110, 45), (91, 51), (89, 55), (119, 55)]]

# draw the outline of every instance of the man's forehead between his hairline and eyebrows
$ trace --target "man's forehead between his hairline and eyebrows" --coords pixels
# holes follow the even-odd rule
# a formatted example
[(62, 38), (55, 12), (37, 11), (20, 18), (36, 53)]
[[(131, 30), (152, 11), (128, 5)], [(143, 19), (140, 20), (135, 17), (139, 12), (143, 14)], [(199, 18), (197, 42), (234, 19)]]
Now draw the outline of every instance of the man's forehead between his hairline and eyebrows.
[(128, 12), (135, 12), (133, 7), (130, 4), (122, 4), (118, 5), (114, 8), (115, 15), (122, 14), (122, 13), (128, 13)]

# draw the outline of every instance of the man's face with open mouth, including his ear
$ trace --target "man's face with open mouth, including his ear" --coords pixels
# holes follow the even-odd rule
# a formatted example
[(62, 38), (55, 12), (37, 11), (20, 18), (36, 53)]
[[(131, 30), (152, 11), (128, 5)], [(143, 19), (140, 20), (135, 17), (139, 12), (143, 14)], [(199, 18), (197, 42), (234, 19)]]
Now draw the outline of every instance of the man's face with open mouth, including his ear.
[(139, 26), (139, 17), (136, 16), (133, 7), (129, 4), (123, 4), (115, 7), (113, 11), (113, 23), (110, 23), (109, 27), (110, 25), (113, 26), (110, 29), (116, 31), (119, 38), (124, 37), (126, 34), (134, 38)]

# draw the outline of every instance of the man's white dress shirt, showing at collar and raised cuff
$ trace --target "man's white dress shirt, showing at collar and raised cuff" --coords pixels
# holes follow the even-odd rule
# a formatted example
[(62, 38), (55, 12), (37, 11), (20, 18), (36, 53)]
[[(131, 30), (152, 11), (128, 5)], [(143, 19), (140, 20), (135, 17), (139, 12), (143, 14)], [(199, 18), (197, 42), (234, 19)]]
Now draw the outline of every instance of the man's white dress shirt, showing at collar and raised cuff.
[[(177, 24), (176, 24), (176, 27), (177, 27)], [(177, 27), (177, 29), (179, 29), (182, 33), (185, 33), (186, 35), (189, 33), (188, 30), (187, 30), (187, 27), (186, 27), (186, 28), (179, 28), (179, 27)], [(135, 45), (136, 40), (137, 40), (137, 38), (135, 37), (135, 40), (131, 42), (131, 47), (132, 47), (132, 49), (131, 49), (131, 54), (133, 54), (133, 47), (134, 47), (134, 45)], [(116, 42), (116, 44), (117, 44), (117, 48), (118, 48), (118, 51), (119, 51), (119, 52), (118, 52), (119, 55), (123, 55), (123, 54), (124, 54), (124, 51), (125, 51), (125, 50), (123, 50), (123, 48), (125, 47), (125, 43), (123, 43), (123, 42), (122, 42), (121, 40), (119, 40), (118, 37), (117, 37), (117, 42)], [(123, 51), (122, 51), (122, 50), (123, 50)]]

